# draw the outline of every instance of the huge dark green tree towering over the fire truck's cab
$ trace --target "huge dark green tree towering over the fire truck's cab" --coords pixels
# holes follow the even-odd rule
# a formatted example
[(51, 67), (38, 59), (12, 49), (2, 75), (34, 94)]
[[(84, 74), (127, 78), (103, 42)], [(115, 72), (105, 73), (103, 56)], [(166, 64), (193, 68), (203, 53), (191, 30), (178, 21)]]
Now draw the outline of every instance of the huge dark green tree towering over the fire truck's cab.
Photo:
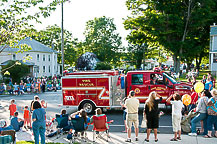
[(207, 48), (215, 0), (127, 0), (126, 5), (132, 10), (124, 22), (131, 30), (128, 39), (164, 47), (173, 54), (176, 72), (181, 58), (191, 61), (189, 56), (198, 57)]

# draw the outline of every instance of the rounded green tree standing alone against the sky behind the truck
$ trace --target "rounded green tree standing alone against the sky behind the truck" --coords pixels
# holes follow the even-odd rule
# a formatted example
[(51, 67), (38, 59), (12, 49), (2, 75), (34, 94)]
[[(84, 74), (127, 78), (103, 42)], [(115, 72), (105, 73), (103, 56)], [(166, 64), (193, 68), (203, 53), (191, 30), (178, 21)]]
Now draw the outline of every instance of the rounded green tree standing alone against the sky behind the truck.
[(112, 18), (103, 16), (88, 21), (84, 35), (85, 52), (93, 52), (102, 62), (120, 62), (122, 42)]

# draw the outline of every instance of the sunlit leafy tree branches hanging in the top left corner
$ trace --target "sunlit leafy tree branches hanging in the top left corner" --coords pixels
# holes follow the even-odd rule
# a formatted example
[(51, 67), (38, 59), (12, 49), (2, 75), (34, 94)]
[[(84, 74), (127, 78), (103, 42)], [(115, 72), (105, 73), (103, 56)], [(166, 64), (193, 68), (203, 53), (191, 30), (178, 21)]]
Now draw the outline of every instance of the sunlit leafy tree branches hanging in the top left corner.
[[(7, 47), (17, 47), (20, 51), (29, 50), (28, 45), (17, 45), (25, 37), (34, 34), (26, 31), (33, 27), (30, 23), (40, 23), (40, 17), (48, 17), (56, 6), (67, 0), (52, 0), (45, 5), (45, 0), (2, 0), (0, 1), (0, 53)], [(44, 5), (44, 6), (40, 6)], [(35, 13), (29, 12), (31, 8), (38, 8)]]

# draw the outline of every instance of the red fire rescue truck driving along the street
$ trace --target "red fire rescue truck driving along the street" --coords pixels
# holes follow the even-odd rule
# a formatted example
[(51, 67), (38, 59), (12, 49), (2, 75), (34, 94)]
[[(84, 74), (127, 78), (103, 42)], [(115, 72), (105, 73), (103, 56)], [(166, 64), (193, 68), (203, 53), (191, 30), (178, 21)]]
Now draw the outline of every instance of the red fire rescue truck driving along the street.
[(88, 113), (96, 107), (120, 107), (120, 101), (131, 90), (141, 103), (151, 91), (156, 91), (166, 104), (171, 94), (191, 94), (191, 87), (177, 82), (166, 72), (154, 71), (129, 71), (126, 76), (119, 75), (118, 71), (75, 72), (62, 77), (63, 105), (83, 108)]

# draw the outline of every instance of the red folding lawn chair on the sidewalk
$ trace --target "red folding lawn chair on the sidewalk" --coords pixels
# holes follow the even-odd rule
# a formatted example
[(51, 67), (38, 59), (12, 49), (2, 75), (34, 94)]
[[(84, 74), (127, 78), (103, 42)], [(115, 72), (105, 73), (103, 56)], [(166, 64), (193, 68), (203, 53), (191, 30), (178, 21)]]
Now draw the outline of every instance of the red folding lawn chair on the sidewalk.
[(110, 138), (108, 123), (111, 122), (113, 122), (113, 120), (107, 122), (106, 115), (99, 116), (99, 117), (93, 116), (93, 142), (95, 142), (95, 139), (103, 137), (103, 134), (106, 134), (107, 136), (106, 141), (108, 142), (108, 138)]

